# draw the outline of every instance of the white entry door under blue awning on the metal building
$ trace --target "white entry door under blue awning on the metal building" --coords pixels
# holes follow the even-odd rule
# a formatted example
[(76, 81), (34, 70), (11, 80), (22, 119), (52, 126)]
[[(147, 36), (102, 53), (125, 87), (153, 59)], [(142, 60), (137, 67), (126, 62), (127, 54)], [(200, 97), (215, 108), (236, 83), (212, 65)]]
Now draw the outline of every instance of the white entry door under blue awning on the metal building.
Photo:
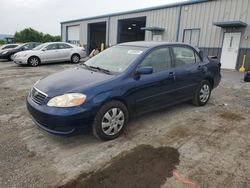
[(241, 33), (225, 33), (221, 54), (221, 68), (235, 69)]

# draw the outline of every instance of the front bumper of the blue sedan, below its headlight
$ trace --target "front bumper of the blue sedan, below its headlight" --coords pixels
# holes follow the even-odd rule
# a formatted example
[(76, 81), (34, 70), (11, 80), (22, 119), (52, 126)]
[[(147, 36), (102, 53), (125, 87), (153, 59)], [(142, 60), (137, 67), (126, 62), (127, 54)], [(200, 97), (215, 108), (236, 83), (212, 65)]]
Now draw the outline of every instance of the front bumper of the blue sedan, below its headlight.
[(35, 103), (30, 94), (26, 105), (34, 123), (41, 129), (56, 135), (71, 135), (85, 131), (92, 124), (95, 111), (90, 105), (73, 108), (54, 108)]

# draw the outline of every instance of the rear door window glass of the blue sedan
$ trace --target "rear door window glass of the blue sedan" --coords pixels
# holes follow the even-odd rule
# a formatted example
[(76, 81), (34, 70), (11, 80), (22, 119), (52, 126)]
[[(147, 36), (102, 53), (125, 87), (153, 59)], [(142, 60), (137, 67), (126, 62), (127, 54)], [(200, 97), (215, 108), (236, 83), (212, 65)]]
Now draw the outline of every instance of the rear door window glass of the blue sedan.
[(191, 48), (173, 47), (173, 52), (176, 67), (196, 63), (196, 53)]

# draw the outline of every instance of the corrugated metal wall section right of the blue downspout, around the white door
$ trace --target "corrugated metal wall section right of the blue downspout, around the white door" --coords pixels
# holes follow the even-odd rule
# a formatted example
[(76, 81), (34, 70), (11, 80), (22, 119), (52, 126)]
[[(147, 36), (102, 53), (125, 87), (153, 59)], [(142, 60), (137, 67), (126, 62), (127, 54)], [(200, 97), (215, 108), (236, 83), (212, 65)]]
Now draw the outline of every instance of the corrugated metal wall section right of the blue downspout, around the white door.
[[(249, 47), (250, 40), (250, 1), (249, 0), (213, 0), (194, 5), (186, 5), (182, 9), (179, 41), (182, 41), (183, 30), (200, 28), (201, 47), (221, 47), (223, 35), (227, 29), (213, 25), (218, 21), (240, 20), (248, 24), (243, 31), (241, 47)], [(236, 30), (238, 31), (238, 29)]]

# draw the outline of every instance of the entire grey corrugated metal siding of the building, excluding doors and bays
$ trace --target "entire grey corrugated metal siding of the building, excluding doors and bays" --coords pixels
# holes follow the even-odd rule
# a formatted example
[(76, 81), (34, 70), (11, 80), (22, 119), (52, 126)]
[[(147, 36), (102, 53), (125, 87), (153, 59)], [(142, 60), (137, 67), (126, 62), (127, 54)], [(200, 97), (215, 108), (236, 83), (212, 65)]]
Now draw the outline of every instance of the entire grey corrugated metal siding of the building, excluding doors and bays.
[[(250, 48), (250, 0), (211, 0), (209, 2), (185, 5), (182, 7), (180, 33), (178, 41), (183, 39), (184, 29), (200, 28), (199, 46), (204, 48), (221, 48), (224, 32), (232, 31), (213, 25), (218, 21), (240, 20), (248, 24), (247, 28), (236, 29), (242, 31), (241, 48)], [(175, 41), (179, 7), (170, 7), (138, 13), (129, 13), (110, 17), (109, 44), (117, 43), (118, 20), (146, 16), (146, 26), (165, 28), (162, 39)], [(80, 42), (87, 44), (88, 23), (107, 21), (109, 18), (91, 19), (89, 21), (62, 24), (62, 40), (66, 40), (66, 26), (80, 24)], [(107, 28), (108, 29), (108, 28)], [(108, 34), (108, 31), (106, 32)], [(151, 40), (151, 32), (146, 31), (145, 40)]]

